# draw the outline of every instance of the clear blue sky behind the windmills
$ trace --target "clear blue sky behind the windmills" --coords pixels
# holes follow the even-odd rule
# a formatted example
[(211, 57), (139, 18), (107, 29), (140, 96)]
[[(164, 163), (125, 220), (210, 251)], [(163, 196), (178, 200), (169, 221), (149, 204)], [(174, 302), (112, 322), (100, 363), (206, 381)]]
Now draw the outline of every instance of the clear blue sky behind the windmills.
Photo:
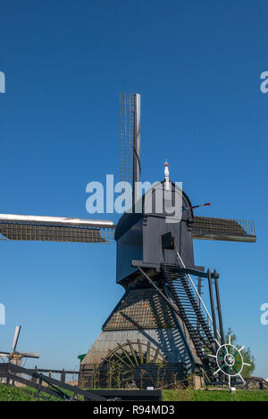
[[(197, 214), (255, 220), (255, 244), (195, 251), (220, 272), (225, 328), (264, 377), (267, 13), (264, 0), (3, 0), (0, 13), (0, 212), (90, 217), (88, 182), (119, 177), (119, 93), (142, 94), (143, 180), (162, 179), (168, 158), (193, 204), (212, 201)], [(21, 324), (39, 366), (78, 368), (123, 292), (115, 245), (0, 245), (0, 349)]]

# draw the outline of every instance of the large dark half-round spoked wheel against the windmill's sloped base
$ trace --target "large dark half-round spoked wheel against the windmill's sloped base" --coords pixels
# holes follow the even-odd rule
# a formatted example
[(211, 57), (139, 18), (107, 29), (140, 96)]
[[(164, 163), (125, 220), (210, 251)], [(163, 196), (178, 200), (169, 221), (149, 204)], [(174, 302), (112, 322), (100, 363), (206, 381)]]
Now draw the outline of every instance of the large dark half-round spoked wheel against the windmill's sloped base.
[(155, 386), (159, 369), (165, 362), (159, 348), (152, 347), (150, 341), (139, 340), (118, 343), (104, 359), (107, 381), (118, 388)]

